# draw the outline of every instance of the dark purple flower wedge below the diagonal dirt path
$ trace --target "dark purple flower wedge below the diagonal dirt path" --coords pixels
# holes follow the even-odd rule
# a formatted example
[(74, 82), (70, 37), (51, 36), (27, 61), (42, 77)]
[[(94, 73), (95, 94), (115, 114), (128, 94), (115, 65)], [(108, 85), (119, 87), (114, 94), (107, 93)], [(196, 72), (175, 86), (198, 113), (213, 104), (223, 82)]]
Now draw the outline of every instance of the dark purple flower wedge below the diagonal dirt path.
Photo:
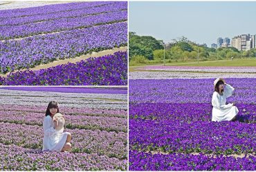
[(127, 85), (127, 52), (38, 71), (15, 72), (0, 85)]

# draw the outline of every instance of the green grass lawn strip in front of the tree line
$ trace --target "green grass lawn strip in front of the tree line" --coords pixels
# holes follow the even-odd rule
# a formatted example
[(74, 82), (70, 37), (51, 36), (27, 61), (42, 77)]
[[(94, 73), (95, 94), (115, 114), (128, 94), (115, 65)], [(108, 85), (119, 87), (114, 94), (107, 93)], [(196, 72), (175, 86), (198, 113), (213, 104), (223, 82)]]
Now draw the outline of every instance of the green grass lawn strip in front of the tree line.
[[(155, 64), (140, 64), (129, 66), (129, 72), (137, 71), (137, 67), (143, 67), (147, 65), (163, 65), (163, 63)], [(165, 63), (167, 66), (254, 66), (256, 67), (256, 58), (241, 58), (236, 60), (220, 60), (220, 61), (199, 61), (199, 63), (193, 62), (173, 62)]]

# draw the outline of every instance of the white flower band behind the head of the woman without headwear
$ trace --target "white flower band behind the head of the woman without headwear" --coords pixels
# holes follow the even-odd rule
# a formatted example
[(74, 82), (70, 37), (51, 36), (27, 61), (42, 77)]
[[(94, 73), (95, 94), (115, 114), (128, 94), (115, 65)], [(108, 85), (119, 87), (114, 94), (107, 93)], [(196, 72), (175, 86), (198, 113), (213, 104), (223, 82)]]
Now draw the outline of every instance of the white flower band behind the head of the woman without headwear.
[(1, 105), (42, 105), (57, 101), (60, 107), (127, 109), (125, 94), (75, 94), (59, 92), (28, 92), (0, 89)]

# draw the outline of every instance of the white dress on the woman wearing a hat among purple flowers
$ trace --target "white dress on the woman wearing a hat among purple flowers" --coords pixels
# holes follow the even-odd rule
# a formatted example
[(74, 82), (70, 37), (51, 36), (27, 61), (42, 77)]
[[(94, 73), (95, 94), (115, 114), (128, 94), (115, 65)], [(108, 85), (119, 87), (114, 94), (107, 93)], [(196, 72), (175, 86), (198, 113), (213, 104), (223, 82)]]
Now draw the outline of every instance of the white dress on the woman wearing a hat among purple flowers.
[(234, 90), (233, 87), (226, 84), (223, 96), (219, 95), (217, 92), (212, 94), (212, 121), (220, 122), (223, 120), (232, 120), (232, 118), (237, 116), (237, 107), (233, 106), (232, 103), (226, 105), (227, 98), (232, 96)]

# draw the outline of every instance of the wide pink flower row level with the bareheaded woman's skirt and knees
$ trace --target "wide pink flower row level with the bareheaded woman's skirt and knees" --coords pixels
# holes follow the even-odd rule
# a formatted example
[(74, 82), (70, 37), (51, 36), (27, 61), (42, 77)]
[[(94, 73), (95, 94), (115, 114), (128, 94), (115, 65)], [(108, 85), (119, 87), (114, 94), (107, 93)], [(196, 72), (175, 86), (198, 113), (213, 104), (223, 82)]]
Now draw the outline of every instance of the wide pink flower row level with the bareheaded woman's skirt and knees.
[[(44, 118), (44, 117), (42, 117)], [(43, 146), (43, 128), (37, 125), (17, 125), (0, 122), (0, 143), (40, 149)], [(127, 159), (127, 133), (89, 129), (65, 129), (72, 134), (73, 153), (96, 153), (109, 158)]]

